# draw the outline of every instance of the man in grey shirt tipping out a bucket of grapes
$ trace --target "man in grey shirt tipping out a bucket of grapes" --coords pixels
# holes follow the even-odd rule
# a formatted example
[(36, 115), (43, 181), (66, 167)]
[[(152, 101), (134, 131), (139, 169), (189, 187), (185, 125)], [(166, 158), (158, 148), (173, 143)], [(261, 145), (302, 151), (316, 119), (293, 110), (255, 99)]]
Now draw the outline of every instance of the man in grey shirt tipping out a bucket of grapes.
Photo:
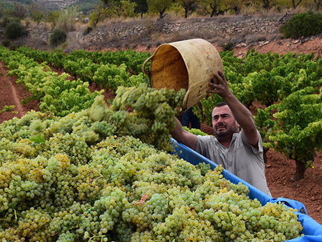
[(176, 141), (223, 165), (227, 171), (271, 196), (265, 178), (262, 138), (253, 115), (232, 94), (222, 71), (214, 74), (214, 78), (217, 82), (209, 83), (208, 93), (218, 94), (225, 100), (212, 110), (214, 137), (186, 132), (177, 119), (171, 135)]

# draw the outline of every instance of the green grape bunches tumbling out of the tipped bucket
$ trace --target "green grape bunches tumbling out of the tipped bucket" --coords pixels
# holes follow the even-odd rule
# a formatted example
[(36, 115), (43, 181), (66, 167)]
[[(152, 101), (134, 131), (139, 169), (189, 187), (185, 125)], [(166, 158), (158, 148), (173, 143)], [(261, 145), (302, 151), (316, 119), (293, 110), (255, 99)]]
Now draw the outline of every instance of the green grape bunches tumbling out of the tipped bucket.
[(181, 110), (185, 95), (183, 88), (176, 92), (166, 88), (156, 90), (146, 84), (129, 88), (121, 86), (116, 90), (111, 109), (119, 113), (119, 110), (132, 108), (133, 114), (126, 119), (131, 124), (123, 121), (123, 127), (129, 126), (129, 130), (134, 130), (131, 135), (145, 143), (170, 151), (173, 147), (169, 143), (169, 132), (175, 128), (174, 117)]

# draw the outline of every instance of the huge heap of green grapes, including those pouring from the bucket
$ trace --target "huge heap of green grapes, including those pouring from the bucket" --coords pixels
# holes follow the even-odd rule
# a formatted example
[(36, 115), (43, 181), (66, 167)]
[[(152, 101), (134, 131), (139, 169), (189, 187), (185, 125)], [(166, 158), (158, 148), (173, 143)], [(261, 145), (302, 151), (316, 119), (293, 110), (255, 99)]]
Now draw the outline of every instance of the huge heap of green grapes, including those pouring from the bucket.
[(301, 223), (283, 204), (171, 154), (185, 92), (119, 88), (66, 117), (0, 125), (1, 241), (285, 241)]

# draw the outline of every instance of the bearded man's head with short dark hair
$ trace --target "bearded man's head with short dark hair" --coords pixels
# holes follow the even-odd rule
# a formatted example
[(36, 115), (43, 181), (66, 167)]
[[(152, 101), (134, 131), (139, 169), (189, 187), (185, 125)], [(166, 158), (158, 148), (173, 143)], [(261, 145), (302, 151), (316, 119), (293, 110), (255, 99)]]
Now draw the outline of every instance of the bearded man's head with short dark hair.
[(229, 106), (216, 107), (212, 110), (212, 129), (219, 141), (230, 140), (232, 134), (239, 132), (239, 125)]

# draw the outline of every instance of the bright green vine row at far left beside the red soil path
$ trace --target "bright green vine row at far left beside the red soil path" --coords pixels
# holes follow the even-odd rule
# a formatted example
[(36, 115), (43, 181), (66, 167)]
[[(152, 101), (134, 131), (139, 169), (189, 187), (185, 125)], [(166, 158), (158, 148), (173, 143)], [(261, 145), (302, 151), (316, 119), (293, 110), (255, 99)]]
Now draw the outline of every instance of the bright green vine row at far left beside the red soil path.
[(32, 93), (25, 102), (37, 99), (42, 112), (50, 111), (63, 117), (71, 112), (89, 108), (95, 97), (100, 95), (97, 91), (90, 92), (88, 82), (66, 80), (69, 74), (63, 73), (58, 76), (45, 62), (40, 65), (34, 59), (19, 53), (19, 49), (13, 52), (2, 47), (0, 60), (11, 69), (8, 75), (16, 76), (17, 82), (21, 82)]

